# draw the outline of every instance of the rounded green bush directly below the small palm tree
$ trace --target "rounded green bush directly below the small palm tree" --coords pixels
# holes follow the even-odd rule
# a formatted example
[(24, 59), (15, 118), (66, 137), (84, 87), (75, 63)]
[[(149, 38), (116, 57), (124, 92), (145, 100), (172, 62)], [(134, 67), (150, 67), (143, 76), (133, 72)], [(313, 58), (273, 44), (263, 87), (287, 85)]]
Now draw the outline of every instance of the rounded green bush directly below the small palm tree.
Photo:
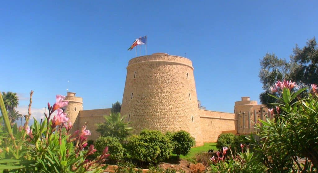
[(102, 137), (96, 139), (95, 149), (97, 153), (102, 153), (105, 147), (108, 147), (108, 153), (110, 153), (110, 161), (117, 162), (124, 157), (125, 149), (121, 146), (119, 139), (115, 137)]

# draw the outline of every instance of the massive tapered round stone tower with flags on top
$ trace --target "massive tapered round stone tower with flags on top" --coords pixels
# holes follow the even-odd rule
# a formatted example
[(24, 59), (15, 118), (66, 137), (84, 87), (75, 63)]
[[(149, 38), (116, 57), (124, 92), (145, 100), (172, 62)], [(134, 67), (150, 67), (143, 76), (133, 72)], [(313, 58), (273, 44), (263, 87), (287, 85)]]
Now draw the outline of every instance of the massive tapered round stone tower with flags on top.
[(192, 62), (155, 53), (135, 57), (127, 66), (121, 115), (134, 133), (142, 129), (185, 130), (203, 145)]

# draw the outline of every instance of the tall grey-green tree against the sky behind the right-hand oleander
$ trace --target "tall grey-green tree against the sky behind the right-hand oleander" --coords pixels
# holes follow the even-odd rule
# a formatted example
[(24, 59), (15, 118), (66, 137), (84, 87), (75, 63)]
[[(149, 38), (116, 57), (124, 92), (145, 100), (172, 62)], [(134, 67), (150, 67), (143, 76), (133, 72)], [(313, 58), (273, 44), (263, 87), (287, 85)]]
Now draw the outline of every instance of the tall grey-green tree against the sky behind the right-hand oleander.
[[(308, 87), (312, 83), (318, 83), (318, 45), (315, 37), (308, 40), (306, 46), (302, 49), (296, 47), (293, 49), (293, 55), (290, 61), (279, 59), (275, 54), (266, 53), (265, 57), (260, 60), (259, 78), (263, 84), (263, 90), (259, 95), (260, 102), (268, 107), (273, 107), (268, 103), (277, 103), (277, 98), (271, 97), (269, 88), (276, 81), (283, 79), (294, 81), (300, 88)], [(297, 89), (294, 89), (297, 90)], [(301, 97), (307, 96), (308, 93), (301, 93)], [(277, 97), (277, 93), (274, 93)]]

